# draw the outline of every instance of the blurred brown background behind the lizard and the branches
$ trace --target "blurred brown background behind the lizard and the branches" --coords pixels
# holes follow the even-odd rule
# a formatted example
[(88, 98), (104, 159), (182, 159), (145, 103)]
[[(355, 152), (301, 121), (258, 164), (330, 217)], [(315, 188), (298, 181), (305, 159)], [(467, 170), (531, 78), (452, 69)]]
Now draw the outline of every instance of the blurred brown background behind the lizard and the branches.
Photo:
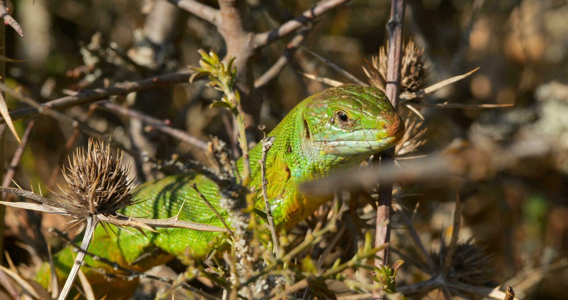
[[(298, 15), (315, 1), (280, 1), (283, 14)], [(60, 98), (77, 91), (148, 78), (196, 65), (197, 49), (226, 50), (210, 23), (162, 1), (9, 1), (12, 15), (26, 32), (20, 38), (6, 27), (6, 56), (27, 62), (8, 62), (5, 82), (22, 86), (35, 99)], [(216, 1), (204, 1), (216, 7)], [(257, 32), (274, 28), (278, 20), (265, 9), (265, 1), (248, 0)], [(328, 12), (304, 40), (304, 47), (335, 62), (361, 80), (361, 66), (386, 43), (385, 24), (390, 1), (356, 0)], [(422, 109), (427, 143), (413, 155), (460, 151), (476, 163), (470, 179), (403, 187), (396, 201), (414, 207), (420, 202), (415, 224), (429, 248), (440, 245), (440, 232), (449, 236), (456, 182), (463, 201), (461, 239), (473, 237), (494, 257), (495, 284), (523, 272), (546, 280), (517, 285), (524, 299), (566, 299), (568, 271), (536, 274), (534, 268), (568, 255), (568, 2), (565, 0), (408, 0), (406, 40), (424, 48), (431, 76), (438, 81), (480, 67), (476, 73), (424, 99), (425, 103), (515, 103), (507, 109)], [(290, 39), (286, 39), (289, 41)], [(285, 49), (277, 41), (254, 58), (255, 77), (264, 73)], [(114, 50), (112, 50), (114, 49)], [(125, 62), (127, 57), (131, 62)], [(272, 128), (303, 98), (327, 85), (298, 72), (349, 80), (301, 49), (276, 80), (260, 89), (259, 123)], [(130, 94), (113, 100), (207, 139), (229, 140), (223, 110), (208, 105), (219, 95), (203, 81), (163, 90)], [(10, 110), (24, 107), (10, 96)], [(199, 150), (164, 134), (145, 132), (144, 124), (97, 109), (87, 117), (89, 105), (65, 113), (111, 134), (132, 148), (167, 159), (183, 153), (204, 160)], [(20, 132), (28, 121), (15, 122)], [(73, 128), (47, 116), (35, 118), (30, 143), (14, 180), (24, 189), (47, 186), (53, 168), (65, 157), (65, 143)], [(80, 135), (73, 147), (83, 145)], [(17, 142), (8, 133), (4, 166)], [(62, 156), (63, 155), (63, 156)], [(62, 161), (61, 163), (63, 163)], [(160, 177), (137, 165), (139, 180)], [(57, 180), (62, 180), (57, 173)], [(26, 213), (23, 213), (26, 214)], [(18, 226), (35, 215), (16, 217), (8, 210), (5, 247), (12, 259), (27, 264), (30, 256), (16, 241), (35, 240), (37, 256), (45, 257), (39, 229)], [(399, 222), (398, 219), (393, 221)], [(41, 231), (63, 223), (44, 216)], [(394, 225), (395, 226), (395, 225)], [(393, 236), (404, 244), (404, 230)], [(537, 278), (535, 277), (535, 278)], [(405, 277), (406, 278), (406, 277)], [(540, 279), (540, 277), (538, 277)], [(406, 278), (412, 280), (412, 278)], [(516, 290), (517, 290), (516, 289)], [(436, 298), (434, 295), (432, 298)]]

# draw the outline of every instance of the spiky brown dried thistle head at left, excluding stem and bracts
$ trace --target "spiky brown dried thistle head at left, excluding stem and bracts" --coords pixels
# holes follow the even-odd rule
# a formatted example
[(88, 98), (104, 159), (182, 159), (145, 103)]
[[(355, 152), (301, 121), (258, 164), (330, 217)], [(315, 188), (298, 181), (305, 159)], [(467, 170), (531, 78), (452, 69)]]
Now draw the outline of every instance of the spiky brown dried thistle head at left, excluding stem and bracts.
[(132, 163), (124, 167), (122, 152), (113, 157), (110, 144), (89, 139), (87, 151), (77, 148), (69, 164), (68, 172), (63, 171), (67, 184), (61, 190), (73, 207), (101, 214), (136, 203), (132, 181), (127, 179)]

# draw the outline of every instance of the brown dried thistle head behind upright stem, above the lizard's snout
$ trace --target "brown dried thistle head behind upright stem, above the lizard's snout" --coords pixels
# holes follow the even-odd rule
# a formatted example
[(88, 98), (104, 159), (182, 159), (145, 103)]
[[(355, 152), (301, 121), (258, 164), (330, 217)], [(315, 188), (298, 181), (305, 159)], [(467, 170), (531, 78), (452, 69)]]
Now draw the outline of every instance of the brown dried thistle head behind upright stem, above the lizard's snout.
[[(369, 77), (369, 83), (382, 90), (386, 89), (387, 57), (385, 47), (381, 47), (379, 56), (374, 56), (371, 64), (367, 62), (369, 69), (363, 68), (367, 77)], [(401, 92), (414, 93), (424, 89), (430, 74), (429, 68), (425, 68), (425, 60), (424, 49), (418, 49), (414, 41), (408, 41), (400, 67)]]

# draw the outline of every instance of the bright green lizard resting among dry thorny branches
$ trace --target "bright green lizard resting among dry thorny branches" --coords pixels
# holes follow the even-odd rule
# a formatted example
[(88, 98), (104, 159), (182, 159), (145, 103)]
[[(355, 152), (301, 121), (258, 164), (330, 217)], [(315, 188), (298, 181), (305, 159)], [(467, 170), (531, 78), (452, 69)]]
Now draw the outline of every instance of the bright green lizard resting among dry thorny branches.
[[(269, 134), (275, 136), (266, 159), (268, 196), (274, 222), (286, 228), (293, 227), (331, 199), (331, 195), (313, 197), (300, 193), (299, 182), (357, 168), (369, 156), (398, 143), (403, 133), (402, 119), (385, 93), (375, 87), (342, 85), (304, 99)], [(260, 159), (261, 145), (250, 149), (249, 155), (250, 161)], [(237, 168), (242, 169), (242, 165), (241, 160), (237, 161)], [(255, 163), (250, 164), (250, 168), (251, 186), (260, 188), (260, 166)], [(123, 213), (164, 219), (179, 211), (181, 220), (222, 227), (220, 220), (191, 189), (193, 183), (220, 214), (227, 216), (227, 212), (219, 207), (217, 186), (198, 174), (169, 176), (141, 185), (135, 193), (148, 201), (135, 205), (133, 211), (127, 207)], [(181, 207), (183, 201), (185, 205)], [(257, 208), (264, 209), (264, 202), (258, 203), (262, 205)], [(123, 230), (117, 232), (118, 236), (107, 235), (103, 228), (97, 228), (89, 252), (127, 268), (145, 271), (187, 253), (203, 257), (211, 249), (222, 247), (225, 235), (179, 228), (158, 230), (160, 234), (148, 232), (144, 237)], [(64, 281), (69, 273), (73, 255), (71, 249), (66, 248), (53, 257), (59, 280)], [(85, 261), (107, 272), (118, 272), (90, 257)], [(97, 295), (108, 294), (106, 299), (131, 294), (137, 285), (137, 282), (120, 279), (107, 282), (90, 268), (83, 267), (82, 271)], [(49, 277), (49, 265), (45, 264), (37, 279), (47, 286)]]

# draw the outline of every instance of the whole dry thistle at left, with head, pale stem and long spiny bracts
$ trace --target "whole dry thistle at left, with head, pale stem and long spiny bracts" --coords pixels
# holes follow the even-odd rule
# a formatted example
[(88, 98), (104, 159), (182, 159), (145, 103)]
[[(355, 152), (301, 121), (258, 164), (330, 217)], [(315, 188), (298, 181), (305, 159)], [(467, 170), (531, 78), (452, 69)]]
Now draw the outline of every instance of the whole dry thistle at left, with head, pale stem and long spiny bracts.
[[(68, 224), (76, 226), (79, 230), (85, 230), (81, 250), (74, 261), (73, 268), (59, 295), (59, 299), (66, 299), (72, 288), (73, 282), (80, 271), (85, 251), (93, 239), (94, 230), (101, 224), (106, 230), (105, 223), (123, 227), (133, 227), (144, 234), (144, 230), (155, 231), (152, 227), (187, 228), (199, 231), (224, 232), (225, 228), (209, 224), (193, 223), (179, 220), (177, 215), (169, 219), (144, 219), (127, 216), (118, 213), (118, 210), (137, 203), (132, 194), (131, 181), (127, 179), (130, 165), (124, 168), (122, 165), (122, 153), (117, 152), (116, 157), (111, 154), (110, 145), (102, 141), (89, 139), (87, 152), (78, 149), (73, 156), (68, 168), (70, 175), (64, 172), (67, 184), (62, 195), (58, 195), (67, 203), (51, 201), (40, 194), (22, 189), (0, 187), (1, 191), (22, 195), (41, 204), (27, 202), (0, 202), (3, 205), (19, 207), (23, 209), (41, 211), (43, 213), (72, 216), (73, 220)], [(130, 231), (128, 231), (130, 232)]]

